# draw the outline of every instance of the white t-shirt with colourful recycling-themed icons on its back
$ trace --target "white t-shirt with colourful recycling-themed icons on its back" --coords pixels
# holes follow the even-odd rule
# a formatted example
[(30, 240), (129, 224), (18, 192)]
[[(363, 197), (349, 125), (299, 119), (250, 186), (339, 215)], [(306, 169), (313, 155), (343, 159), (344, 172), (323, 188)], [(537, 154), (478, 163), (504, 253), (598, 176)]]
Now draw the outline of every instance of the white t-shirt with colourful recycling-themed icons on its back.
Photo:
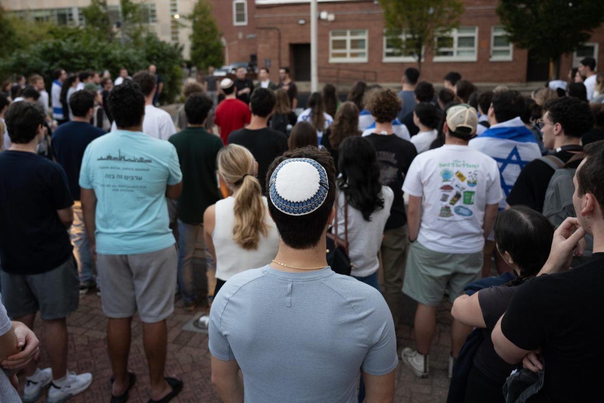
[(454, 144), (416, 156), (403, 192), (423, 196), (417, 241), (441, 253), (483, 250), (485, 207), (503, 199), (495, 160), (472, 147)]

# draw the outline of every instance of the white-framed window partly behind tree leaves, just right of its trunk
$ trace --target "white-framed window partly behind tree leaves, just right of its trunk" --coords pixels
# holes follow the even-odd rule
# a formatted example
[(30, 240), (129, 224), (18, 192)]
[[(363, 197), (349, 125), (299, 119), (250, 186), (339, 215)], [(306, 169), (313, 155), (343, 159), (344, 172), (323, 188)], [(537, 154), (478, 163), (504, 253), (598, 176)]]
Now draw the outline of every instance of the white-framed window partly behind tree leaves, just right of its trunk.
[(454, 28), (449, 36), (436, 38), (434, 62), (475, 62), (478, 60), (478, 27)]

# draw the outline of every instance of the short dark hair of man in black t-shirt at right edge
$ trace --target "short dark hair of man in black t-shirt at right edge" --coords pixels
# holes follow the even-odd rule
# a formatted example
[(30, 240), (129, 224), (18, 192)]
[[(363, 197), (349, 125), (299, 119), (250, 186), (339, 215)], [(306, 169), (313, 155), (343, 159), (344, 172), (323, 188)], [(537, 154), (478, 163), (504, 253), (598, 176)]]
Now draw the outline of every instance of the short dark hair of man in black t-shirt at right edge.
[[(10, 108), (9, 108), (10, 109)], [(604, 140), (583, 147), (585, 162), (577, 169), (577, 195), (591, 193), (604, 211)], [(577, 211), (578, 213), (578, 211)]]

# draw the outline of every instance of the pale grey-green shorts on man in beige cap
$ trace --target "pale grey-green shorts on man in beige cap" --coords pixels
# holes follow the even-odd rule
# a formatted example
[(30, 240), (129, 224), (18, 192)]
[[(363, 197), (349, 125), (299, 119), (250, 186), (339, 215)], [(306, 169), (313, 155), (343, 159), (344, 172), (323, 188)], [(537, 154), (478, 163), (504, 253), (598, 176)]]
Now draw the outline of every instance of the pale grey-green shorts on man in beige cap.
[(438, 306), (449, 286), (452, 302), (467, 283), (480, 279), (482, 267), (483, 251), (441, 253), (416, 241), (409, 247), (403, 292), (423, 305)]

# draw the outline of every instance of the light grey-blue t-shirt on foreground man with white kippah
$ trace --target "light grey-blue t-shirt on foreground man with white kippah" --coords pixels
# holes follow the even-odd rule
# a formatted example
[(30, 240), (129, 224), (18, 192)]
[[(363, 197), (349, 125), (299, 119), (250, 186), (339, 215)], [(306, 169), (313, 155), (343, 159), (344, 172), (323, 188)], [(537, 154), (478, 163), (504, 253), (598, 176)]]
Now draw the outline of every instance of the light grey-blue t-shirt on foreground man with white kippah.
[(399, 362), (384, 297), (329, 267), (236, 274), (214, 298), (209, 336), (214, 357), (237, 360), (248, 403), (356, 402), (359, 369), (386, 375)]

